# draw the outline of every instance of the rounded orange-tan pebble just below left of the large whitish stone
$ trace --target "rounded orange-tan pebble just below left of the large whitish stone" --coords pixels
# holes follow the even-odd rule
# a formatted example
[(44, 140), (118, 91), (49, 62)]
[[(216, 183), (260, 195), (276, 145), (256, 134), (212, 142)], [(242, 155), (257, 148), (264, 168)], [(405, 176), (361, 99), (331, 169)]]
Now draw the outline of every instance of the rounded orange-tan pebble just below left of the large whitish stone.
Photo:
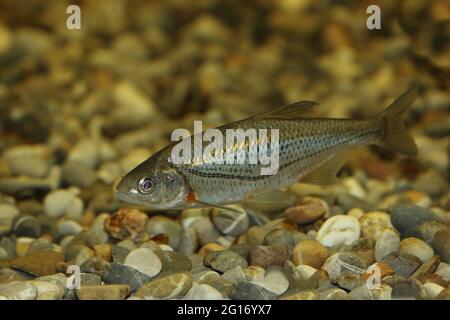
[(320, 269), (329, 256), (328, 249), (316, 240), (300, 241), (292, 252), (295, 265), (306, 264)]

